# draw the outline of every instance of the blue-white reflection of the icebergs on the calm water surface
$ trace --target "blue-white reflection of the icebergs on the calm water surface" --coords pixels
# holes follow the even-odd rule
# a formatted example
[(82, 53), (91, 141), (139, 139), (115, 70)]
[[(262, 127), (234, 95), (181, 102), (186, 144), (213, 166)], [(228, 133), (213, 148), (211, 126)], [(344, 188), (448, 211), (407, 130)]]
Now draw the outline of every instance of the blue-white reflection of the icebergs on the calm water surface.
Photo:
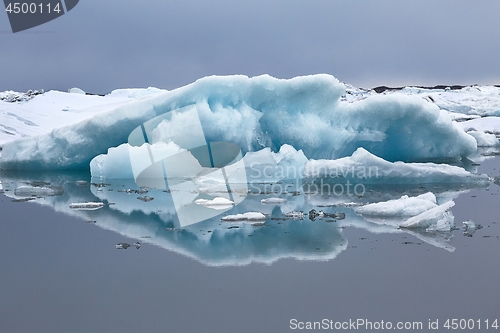
[[(133, 238), (142, 244), (153, 244), (174, 251), (210, 266), (271, 264), (282, 258), (297, 260), (332, 260), (348, 247), (344, 229), (366, 229), (372, 233), (407, 233), (448, 251), (453, 236), (454, 218), (446, 213), (451, 228), (426, 230), (405, 229), (391, 217), (374, 218), (356, 213), (366, 203), (400, 199), (403, 195), (416, 196), (429, 189), (422, 186), (405, 190), (368, 191), (362, 198), (341, 197), (328, 193), (305, 193), (300, 182), (281, 183), (287, 191), (273, 193), (270, 185), (261, 184), (260, 191), (231, 193), (240, 197), (239, 205), (227, 205), (228, 193), (223, 189), (207, 195), (194, 188), (151, 189), (139, 188), (133, 179), (93, 182), (86, 173), (26, 172), (0, 173), (4, 195), (14, 199), (29, 199), (52, 207), (55, 211), (77, 216), (95, 225)], [(487, 185), (481, 185), (486, 187)], [(30, 187), (30, 190), (25, 190)], [(48, 191), (47, 189), (54, 189)], [(57, 190), (55, 190), (57, 189)], [(22, 190), (22, 191), (21, 191)], [(204, 189), (206, 191), (206, 189)], [(431, 189), (432, 190), (432, 189)], [(175, 191), (177, 202), (172, 192)], [(433, 191), (438, 205), (452, 202), (462, 192)], [(144, 201), (148, 196), (154, 200)], [(205, 197), (204, 201), (198, 201)], [(215, 200), (213, 198), (221, 198)], [(179, 198), (185, 202), (186, 214), (205, 214), (201, 222), (183, 224), (179, 221)], [(103, 203), (96, 210), (76, 210), (71, 205)], [(199, 204), (204, 203), (204, 204)], [(223, 209), (218, 203), (226, 204)], [(448, 204), (448, 206), (452, 206)], [(433, 206), (434, 207), (434, 206)], [(358, 209), (359, 210), (359, 209)], [(222, 218), (228, 215), (257, 212), (265, 220), (240, 221)], [(372, 214), (373, 215), (373, 214)]]

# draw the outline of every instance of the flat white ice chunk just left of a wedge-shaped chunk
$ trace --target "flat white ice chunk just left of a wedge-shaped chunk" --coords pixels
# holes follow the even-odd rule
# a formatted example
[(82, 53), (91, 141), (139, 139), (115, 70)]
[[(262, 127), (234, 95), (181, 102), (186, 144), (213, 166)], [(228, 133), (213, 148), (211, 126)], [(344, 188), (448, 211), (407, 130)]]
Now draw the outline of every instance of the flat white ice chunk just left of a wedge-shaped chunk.
[(363, 216), (409, 217), (421, 214), (436, 206), (436, 196), (432, 192), (427, 192), (416, 197), (404, 195), (400, 199), (356, 207), (354, 211)]

